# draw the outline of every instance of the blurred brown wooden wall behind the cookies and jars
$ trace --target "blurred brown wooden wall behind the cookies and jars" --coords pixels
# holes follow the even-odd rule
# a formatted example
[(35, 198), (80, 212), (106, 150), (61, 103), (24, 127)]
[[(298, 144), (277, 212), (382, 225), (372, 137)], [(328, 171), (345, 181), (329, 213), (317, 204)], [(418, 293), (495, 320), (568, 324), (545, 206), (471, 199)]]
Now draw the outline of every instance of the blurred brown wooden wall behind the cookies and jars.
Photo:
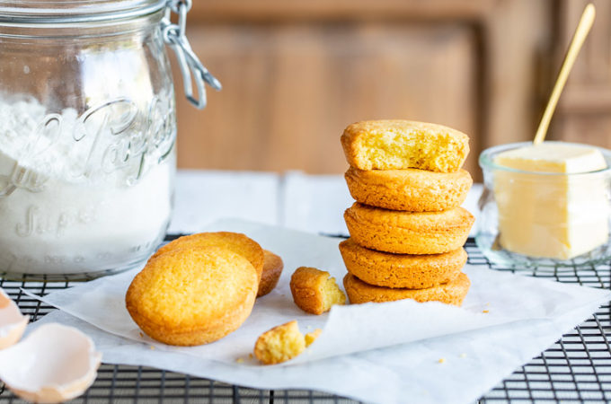
[[(348, 124), (414, 119), (470, 135), (465, 166), (480, 180), (483, 148), (533, 136), (583, 4), (197, 0), (188, 36), (224, 88), (198, 111), (176, 77), (179, 166), (340, 173)], [(611, 2), (595, 4), (551, 136), (607, 144)]]

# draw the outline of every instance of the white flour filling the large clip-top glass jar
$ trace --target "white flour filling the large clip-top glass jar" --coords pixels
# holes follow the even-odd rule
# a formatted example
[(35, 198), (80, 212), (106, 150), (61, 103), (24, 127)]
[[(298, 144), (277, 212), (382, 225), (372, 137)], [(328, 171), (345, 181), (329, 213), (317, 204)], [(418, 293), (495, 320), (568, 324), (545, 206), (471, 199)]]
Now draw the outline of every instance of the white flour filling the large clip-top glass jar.
[(93, 273), (146, 259), (171, 214), (175, 126), (171, 112), (157, 114), (162, 126), (151, 132), (141, 110), (120, 99), (59, 115), (35, 100), (0, 100), (0, 274)]

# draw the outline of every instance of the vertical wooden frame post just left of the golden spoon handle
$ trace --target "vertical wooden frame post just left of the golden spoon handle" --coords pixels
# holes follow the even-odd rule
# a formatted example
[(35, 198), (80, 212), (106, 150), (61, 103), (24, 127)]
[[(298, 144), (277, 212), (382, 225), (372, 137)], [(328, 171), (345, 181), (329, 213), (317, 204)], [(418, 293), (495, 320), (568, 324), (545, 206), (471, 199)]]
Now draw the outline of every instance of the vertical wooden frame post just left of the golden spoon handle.
[(552, 25), (550, 2), (538, 0), (498, 2), (483, 21), (483, 148), (535, 136), (555, 79), (542, 65), (551, 53)]

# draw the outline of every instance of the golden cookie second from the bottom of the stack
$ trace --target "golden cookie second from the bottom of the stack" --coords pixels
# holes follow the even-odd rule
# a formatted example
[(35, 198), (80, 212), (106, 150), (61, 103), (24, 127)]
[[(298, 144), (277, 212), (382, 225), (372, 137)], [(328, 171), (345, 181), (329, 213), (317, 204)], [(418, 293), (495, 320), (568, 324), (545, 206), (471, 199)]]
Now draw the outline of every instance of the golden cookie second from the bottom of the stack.
[(391, 254), (369, 250), (352, 239), (340, 243), (341, 257), (350, 274), (369, 285), (426, 289), (456, 279), (465, 267), (462, 248), (443, 254)]

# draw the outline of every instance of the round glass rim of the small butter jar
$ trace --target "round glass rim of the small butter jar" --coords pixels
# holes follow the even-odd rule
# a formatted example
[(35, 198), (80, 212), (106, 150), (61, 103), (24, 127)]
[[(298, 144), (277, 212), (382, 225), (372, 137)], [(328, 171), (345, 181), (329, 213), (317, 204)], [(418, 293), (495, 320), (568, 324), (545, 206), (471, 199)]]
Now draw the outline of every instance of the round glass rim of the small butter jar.
[(562, 145), (575, 145), (579, 147), (589, 147), (593, 149), (597, 149), (603, 157), (605, 157), (605, 161), (607, 162), (607, 168), (596, 170), (596, 171), (585, 171), (585, 172), (542, 172), (542, 171), (526, 171), (510, 168), (504, 165), (497, 164), (494, 162), (493, 156), (496, 154), (500, 154), (501, 152), (507, 152), (509, 150), (517, 149), (518, 147), (525, 147), (528, 145), (533, 145), (532, 142), (518, 142), (518, 143), (509, 143), (506, 145), (496, 145), (485, 149), (478, 159), (480, 167), (482, 167), (483, 171), (486, 170), (498, 170), (498, 171), (507, 171), (507, 172), (516, 172), (521, 174), (531, 174), (531, 175), (540, 175), (540, 176), (548, 176), (548, 177), (576, 177), (580, 175), (589, 175), (589, 174), (602, 174), (611, 172), (611, 151), (605, 149), (603, 147), (598, 147), (594, 145), (584, 145), (580, 143), (571, 143), (571, 142), (560, 142), (547, 140), (545, 143), (554, 143), (554, 144), (562, 144)]

